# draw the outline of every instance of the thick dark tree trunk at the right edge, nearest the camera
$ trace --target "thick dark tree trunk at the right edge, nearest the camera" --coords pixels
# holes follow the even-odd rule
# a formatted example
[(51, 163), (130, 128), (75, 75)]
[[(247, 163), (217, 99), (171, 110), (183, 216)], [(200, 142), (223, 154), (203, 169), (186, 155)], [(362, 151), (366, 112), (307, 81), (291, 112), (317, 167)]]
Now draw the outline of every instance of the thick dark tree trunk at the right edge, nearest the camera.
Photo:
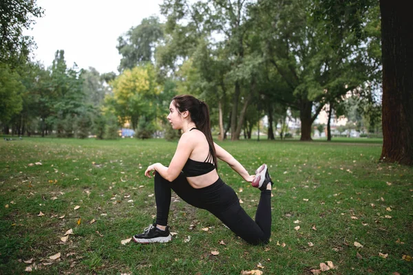
[(380, 0), (385, 162), (413, 164), (413, 17), (399, 2)]

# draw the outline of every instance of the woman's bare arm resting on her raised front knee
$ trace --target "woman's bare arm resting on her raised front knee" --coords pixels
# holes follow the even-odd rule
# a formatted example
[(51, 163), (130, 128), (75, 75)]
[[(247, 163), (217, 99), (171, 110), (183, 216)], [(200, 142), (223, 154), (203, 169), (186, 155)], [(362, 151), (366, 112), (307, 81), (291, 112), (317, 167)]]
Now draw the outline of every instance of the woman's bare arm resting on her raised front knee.
[(184, 133), (178, 142), (176, 147), (175, 155), (173, 155), (169, 167), (163, 166), (159, 162), (156, 164), (151, 164), (145, 170), (145, 176), (151, 178), (151, 170), (153, 173), (158, 172), (161, 177), (167, 179), (167, 181), (173, 181), (181, 173), (182, 168), (184, 168), (185, 163), (189, 159), (191, 152), (193, 151), (194, 142), (191, 140), (188, 133)]

